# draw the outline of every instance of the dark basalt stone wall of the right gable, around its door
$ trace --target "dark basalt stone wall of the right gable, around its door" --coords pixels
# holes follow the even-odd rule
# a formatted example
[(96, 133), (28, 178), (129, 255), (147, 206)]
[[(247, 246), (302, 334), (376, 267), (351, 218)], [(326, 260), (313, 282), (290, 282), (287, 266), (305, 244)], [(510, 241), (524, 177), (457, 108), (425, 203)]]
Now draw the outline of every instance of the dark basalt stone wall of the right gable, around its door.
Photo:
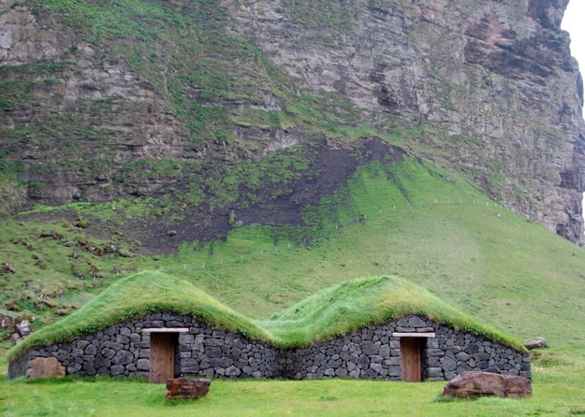
[(349, 376), (401, 381), (401, 338), (392, 336), (395, 332), (436, 334), (418, 338), (423, 379), (451, 380), (471, 370), (531, 378), (528, 353), (414, 315), (303, 349), (281, 351), (279, 374), (295, 379)]

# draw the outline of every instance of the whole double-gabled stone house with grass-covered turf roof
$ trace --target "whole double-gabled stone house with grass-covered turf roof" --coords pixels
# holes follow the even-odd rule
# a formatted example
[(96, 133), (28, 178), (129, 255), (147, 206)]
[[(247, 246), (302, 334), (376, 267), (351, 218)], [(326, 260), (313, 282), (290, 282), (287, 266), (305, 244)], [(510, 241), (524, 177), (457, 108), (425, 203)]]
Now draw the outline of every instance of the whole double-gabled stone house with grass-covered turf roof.
[(9, 360), (9, 378), (47, 363), (66, 374), (156, 383), (175, 376), (436, 381), (468, 370), (531, 378), (518, 341), (396, 277), (348, 281), (260, 322), (185, 281), (141, 272), (29, 336)]

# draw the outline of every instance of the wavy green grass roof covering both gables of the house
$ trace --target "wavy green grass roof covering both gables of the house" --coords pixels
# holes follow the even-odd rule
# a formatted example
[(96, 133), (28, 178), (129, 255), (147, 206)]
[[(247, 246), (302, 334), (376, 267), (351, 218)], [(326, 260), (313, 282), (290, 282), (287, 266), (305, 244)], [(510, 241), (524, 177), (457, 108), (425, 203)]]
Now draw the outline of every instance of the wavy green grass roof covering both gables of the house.
[(346, 281), (317, 292), (268, 320), (257, 321), (235, 312), (187, 281), (145, 271), (120, 279), (83, 308), (34, 332), (14, 346), (8, 357), (14, 359), (28, 347), (70, 341), (151, 312), (189, 314), (277, 347), (309, 345), (405, 314), (418, 314), (524, 350), (519, 341), (474, 321), (424, 288), (394, 276)]

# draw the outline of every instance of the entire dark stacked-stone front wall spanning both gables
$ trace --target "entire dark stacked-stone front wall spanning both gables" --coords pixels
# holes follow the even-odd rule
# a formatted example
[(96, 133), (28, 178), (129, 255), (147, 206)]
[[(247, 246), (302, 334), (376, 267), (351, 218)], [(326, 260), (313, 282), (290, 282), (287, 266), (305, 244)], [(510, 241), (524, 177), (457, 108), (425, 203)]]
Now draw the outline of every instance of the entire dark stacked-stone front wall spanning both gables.
[[(434, 332), (422, 343), (422, 376), (451, 380), (465, 371), (531, 378), (529, 354), (409, 315), (309, 347), (280, 350), (188, 316), (156, 313), (111, 326), (69, 343), (32, 347), (10, 363), (9, 378), (25, 375), (30, 361), (53, 356), (67, 374), (147, 378), (151, 332), (182, 329), (175, 345), (176, 376), (206, 378), (372, 378), (401, 380), (401, 338), (395, 332)], [(187, 330), (188, 329), (188, 330)]]

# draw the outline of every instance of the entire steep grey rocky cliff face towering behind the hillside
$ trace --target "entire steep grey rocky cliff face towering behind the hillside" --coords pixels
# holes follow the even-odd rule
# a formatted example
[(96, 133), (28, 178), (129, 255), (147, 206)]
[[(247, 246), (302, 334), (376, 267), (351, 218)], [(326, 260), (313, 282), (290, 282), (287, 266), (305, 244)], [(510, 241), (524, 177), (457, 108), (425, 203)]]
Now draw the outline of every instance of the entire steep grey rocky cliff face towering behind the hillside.
[(152, 195), (205, 164), (339, 146), (299, 115), (310, 92), (350, 127), (419, 127), (407, 151), (584, 242), (568, 0), (152, 1), (134, 38), (57, 3), (0, 0), (0, 152), (29, 200)]

